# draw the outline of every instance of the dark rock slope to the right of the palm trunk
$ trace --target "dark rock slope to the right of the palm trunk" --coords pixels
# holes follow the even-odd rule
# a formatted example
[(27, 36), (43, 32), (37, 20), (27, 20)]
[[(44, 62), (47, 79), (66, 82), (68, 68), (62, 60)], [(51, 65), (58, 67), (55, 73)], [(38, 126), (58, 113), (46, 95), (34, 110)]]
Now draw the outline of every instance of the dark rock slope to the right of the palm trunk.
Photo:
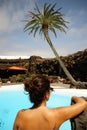
[(87, 82), (87, 49), (63, 57), (62, 60), (76, 80)]

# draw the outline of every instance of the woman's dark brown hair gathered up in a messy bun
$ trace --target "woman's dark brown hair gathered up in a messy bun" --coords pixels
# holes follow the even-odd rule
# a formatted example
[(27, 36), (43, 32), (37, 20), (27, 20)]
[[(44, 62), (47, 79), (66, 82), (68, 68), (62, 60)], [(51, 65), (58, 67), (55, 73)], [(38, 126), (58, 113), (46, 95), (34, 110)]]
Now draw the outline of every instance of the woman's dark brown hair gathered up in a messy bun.
[(50, 87), (50, 81), (47, 76), (37, 75), (31, 80), (25, 80), (25, 91), (30, 95), (30, 101), (34, 103), (35, 106), (39, 106), (44, 100), (46, 92), (53, 90)]

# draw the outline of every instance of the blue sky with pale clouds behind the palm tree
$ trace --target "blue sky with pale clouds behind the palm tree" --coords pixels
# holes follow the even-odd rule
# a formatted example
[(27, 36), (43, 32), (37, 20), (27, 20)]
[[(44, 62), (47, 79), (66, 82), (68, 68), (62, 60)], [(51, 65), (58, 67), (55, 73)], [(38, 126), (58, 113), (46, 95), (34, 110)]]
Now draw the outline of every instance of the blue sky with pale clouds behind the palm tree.
[[(66, 34), (57, 31), (57, 38), (50, 34), (59, 55), (69, 55), (87, 48), (87, 0), (44, 0), (56, 3), (67, 24)], [(36, 2), (43, 8), (43, 0), (0, 0), (0, 56), (55, 57), (43, 37), (28, 35), (23, 31), (28, 11)]]

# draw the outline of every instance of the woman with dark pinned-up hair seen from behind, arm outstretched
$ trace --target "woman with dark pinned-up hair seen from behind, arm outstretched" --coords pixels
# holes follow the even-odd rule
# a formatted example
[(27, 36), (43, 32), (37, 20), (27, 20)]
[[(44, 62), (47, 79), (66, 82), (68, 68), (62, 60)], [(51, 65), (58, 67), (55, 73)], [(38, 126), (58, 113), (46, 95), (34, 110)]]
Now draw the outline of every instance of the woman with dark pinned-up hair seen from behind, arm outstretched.
[(58, 130), (63, 122), (87, 108), (87, 102), (76, 96), (72, 97), (76, 102), (75, 105), (48, 108), (46, 102), (52, 88), (46, 76), (35, 76), (24, 84), (34, 105), (18, 112), (13, 130)]

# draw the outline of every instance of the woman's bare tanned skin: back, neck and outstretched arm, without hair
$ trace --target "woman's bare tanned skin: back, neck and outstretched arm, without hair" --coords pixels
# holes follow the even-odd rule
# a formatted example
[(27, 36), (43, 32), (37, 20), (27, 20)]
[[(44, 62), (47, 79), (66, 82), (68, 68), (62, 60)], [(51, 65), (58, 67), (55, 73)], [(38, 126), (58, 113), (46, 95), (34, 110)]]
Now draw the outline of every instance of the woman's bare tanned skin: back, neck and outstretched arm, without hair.
[(37, 108), (20, 110), (13, 130), (58, 130), (63, 122), (87, 109), (87, 102), (77, 96), (72, 97), (76, 102), (72, 106), (47, 108), (49, 95), (46, 93), (43, 102)]

